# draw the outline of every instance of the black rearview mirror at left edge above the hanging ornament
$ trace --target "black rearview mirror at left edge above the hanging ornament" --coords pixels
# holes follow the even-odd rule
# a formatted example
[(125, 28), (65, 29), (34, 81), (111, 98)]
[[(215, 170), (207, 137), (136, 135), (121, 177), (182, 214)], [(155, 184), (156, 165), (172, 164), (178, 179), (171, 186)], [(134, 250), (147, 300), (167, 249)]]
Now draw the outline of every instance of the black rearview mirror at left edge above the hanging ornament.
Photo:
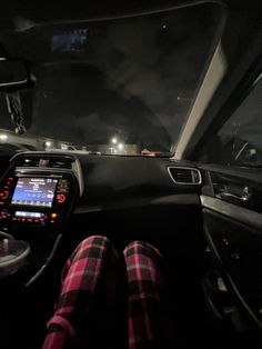
[(0, 90), (19, 89), (29, 82), (26, 63), (21, 60), (0, 60)]

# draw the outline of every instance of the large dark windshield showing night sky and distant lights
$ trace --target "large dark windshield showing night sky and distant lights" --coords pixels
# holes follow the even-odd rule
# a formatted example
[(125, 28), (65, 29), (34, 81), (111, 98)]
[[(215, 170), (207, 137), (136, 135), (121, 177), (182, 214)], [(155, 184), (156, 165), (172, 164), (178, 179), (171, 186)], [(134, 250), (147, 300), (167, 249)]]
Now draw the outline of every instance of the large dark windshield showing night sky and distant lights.
[(1, 96), (0, 142), (170, 156), (215, 48), (220, 22), (216, 6), (201, 4), (0, 36), (11, 57), (29, 62), (36, 80), (20, 93), (27, 124), (21, 140), (4, 133), (14, 127)]

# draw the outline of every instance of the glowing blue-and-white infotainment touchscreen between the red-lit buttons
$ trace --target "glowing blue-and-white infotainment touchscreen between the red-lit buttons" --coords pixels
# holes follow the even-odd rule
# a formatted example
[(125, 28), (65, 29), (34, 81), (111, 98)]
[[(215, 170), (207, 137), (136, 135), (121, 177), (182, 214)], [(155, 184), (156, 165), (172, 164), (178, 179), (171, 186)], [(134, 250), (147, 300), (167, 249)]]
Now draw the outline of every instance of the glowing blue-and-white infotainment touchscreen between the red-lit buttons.
[(11, 203), (52, 207), (57, 183), (52, 178), (19, 178)]

